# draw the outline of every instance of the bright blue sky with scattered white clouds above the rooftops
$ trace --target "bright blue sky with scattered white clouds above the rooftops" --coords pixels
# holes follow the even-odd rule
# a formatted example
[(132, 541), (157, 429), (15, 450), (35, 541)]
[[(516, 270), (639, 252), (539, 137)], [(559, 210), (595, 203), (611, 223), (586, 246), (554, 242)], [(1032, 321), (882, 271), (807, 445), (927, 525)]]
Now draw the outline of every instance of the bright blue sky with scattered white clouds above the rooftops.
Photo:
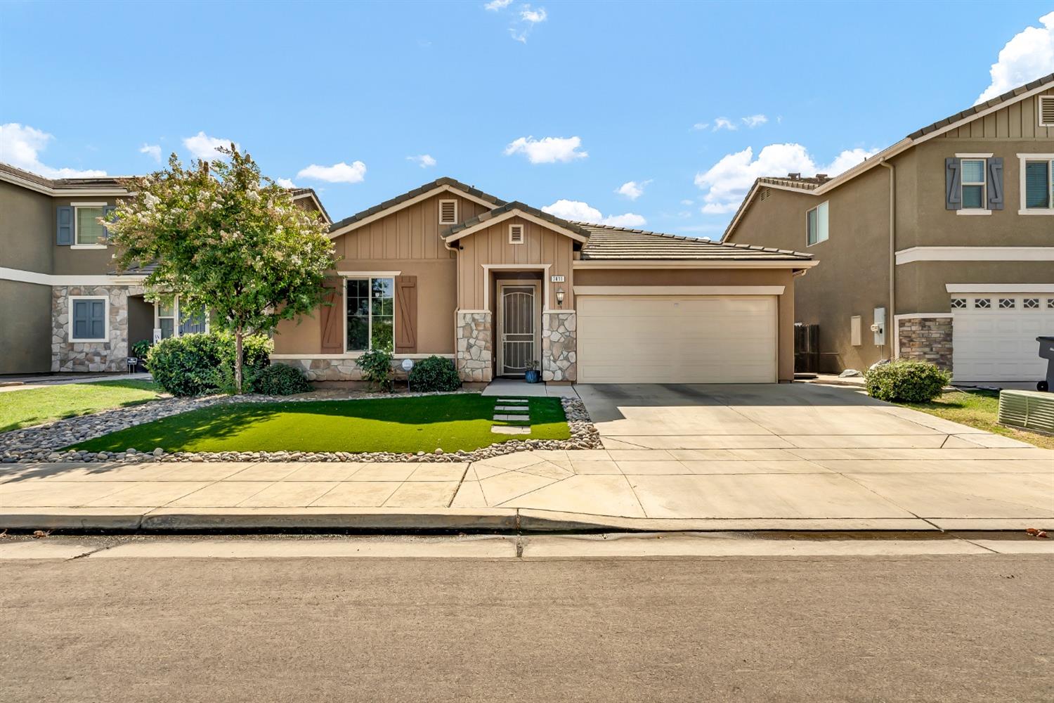
[(452, 176), (718, 237), (756, 175), (834, 175), (1054, 71), (1050, 0), (489, 5), (7, 2), (0, 160), (124, 175), (233, 140), (335, 219)]

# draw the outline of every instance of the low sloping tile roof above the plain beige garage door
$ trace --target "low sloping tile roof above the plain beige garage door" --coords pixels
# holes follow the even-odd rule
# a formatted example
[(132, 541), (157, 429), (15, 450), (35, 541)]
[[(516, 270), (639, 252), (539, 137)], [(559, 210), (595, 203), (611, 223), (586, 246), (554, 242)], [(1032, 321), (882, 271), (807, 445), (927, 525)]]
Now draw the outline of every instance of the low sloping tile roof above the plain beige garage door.
[(589, 242), (582, 248), (584, 261), (808, 261), (813, 258), (812, 254), (786, 249), (734, 245), (588, 222), (575, 222), (575, 224), (588, 231), (590, 235)]

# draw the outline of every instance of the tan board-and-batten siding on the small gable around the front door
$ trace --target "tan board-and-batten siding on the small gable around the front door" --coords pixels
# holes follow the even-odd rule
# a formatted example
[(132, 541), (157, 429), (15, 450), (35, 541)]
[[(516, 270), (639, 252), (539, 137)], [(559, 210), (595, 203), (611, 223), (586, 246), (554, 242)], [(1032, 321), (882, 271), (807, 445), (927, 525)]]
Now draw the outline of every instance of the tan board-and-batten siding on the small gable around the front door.
[[(509, 243), (509, 226), (523, 224), (525, 241)], [(484, 306), (484, 290), (489, 286), (486, 271), (488, 265), (551, 265), (549, 275), (562, 275), (564, 282), (544, 281), (549, 287), (549, 305), (557, 307), (557, 288), (564, 289), (564, 310), (574, 308), (571, 286), (571, 260), (574, 242), (572, 239), (529, 222), (512, 217), (457, 241), (463, 247), (457, 255), (457, 307), (462, 310), (480, 310)], [(525, 269), (530, 270), (530, 269)], [(536, 269), (534, 269), (536, 270)], [(493, 305), (493, 300), (490, 301)]]

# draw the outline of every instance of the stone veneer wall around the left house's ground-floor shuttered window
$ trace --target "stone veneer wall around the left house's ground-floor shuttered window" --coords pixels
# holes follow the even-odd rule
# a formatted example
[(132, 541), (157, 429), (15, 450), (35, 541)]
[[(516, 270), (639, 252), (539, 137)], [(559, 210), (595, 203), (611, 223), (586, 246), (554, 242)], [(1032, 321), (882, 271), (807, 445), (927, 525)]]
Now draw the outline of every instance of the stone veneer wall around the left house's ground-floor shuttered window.
[[(109, 341), (70, 341), (70, 296), (110, 298)], [(138, 286), (54, 286), (52, 288), (52, 371), (125, 371), (130, 295)]]

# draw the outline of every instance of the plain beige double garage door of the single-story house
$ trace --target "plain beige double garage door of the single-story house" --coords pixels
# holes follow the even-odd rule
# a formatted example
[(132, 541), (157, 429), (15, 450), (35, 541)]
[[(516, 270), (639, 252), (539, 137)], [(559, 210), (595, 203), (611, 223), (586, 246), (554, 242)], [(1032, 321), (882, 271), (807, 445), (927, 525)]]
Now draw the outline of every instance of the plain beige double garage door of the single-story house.
[(579, 382), (776, 382), (773, 295), (577, 298)]

